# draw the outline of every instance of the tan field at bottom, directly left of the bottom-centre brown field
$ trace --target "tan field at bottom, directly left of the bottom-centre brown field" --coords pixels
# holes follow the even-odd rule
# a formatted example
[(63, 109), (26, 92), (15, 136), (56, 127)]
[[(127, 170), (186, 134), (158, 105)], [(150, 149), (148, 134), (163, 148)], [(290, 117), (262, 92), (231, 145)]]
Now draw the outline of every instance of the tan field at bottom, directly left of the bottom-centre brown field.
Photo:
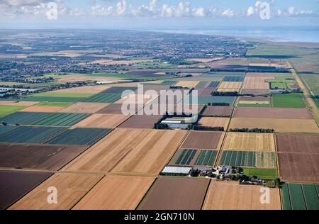
[(155, 177), (108, 175), (73, 209), (134, 210), (154, 180)]

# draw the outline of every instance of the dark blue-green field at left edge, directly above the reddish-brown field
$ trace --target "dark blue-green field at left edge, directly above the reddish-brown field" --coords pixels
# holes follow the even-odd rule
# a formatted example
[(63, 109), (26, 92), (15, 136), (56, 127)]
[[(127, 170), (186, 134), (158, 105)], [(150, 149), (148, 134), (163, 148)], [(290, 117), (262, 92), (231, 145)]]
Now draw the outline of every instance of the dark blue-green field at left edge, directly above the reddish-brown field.
[(10, 143), (41, 143), (52, 135), (60, 133), (59, 127), (17, 127), (0, 136), (0, 142)]

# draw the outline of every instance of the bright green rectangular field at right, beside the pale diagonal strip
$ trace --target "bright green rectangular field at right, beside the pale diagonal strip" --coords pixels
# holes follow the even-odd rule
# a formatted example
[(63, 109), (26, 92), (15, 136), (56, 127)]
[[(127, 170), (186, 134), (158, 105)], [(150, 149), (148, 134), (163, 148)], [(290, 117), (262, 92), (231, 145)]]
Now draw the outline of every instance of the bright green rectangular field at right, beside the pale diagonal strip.
[(302, 94), (273, 94), (274, 107), (279, 108), (303, 108)]

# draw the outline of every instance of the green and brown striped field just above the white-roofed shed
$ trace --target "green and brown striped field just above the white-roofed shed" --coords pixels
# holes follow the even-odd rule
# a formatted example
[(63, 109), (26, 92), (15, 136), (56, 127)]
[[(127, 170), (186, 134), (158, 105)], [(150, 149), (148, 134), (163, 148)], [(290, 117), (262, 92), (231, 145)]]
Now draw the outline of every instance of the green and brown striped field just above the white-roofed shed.
[(217, 153), (217, 150), (177, 150), (169, 165), (213, 167)]

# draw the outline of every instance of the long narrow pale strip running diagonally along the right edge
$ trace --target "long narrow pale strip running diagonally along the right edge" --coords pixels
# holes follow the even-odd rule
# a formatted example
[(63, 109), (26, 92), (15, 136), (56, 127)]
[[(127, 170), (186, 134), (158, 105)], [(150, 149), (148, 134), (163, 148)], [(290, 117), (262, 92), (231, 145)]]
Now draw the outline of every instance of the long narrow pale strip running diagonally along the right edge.
[(293, 68), (290, 62), (287, 62), (289, 67), (292, 67), (291, 69), (291, 75), (294, 79), (296, 79), (296, 82), (300, 86), (301, 90), (303, 91), (303, 96), (305, 96), (306, 103), (308, 108), (310, 109), (310, 112), (313, 114), (313, 118), (315, 118), (315, 122), (317, 125), (319, 125), (319, 110), (317, 105), (315, 104), (315, 101), (313, 101), (313, 98), (311, 97), (310, 91), (308, 88), (303, 84), (302, 80), (298, 77), (298, 74), (296, 73), (296, 70)]

